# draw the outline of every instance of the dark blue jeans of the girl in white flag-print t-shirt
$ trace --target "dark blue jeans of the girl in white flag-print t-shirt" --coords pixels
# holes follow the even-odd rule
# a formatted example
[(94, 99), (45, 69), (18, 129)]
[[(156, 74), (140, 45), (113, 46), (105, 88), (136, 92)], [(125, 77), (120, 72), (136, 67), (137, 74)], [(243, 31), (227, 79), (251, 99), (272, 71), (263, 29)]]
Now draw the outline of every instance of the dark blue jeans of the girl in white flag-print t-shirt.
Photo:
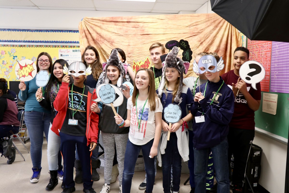
[(149, 157), (152, 146), (153, 139), (147, 142), (147, 144), (141, 146), (131, 143), (129, 139), (127, 140), (123, 169), (123, 193), (130, 193), (131, 180), (134, 175), (134, 167), (136, 165), (136, 160), (138, 159), (138, 154), (140, 153), (140, 150), (142, 150), (145, 172), (147, 174), (146, 192), (153, 192), (153, 183), (155, 183), (155, 158)]

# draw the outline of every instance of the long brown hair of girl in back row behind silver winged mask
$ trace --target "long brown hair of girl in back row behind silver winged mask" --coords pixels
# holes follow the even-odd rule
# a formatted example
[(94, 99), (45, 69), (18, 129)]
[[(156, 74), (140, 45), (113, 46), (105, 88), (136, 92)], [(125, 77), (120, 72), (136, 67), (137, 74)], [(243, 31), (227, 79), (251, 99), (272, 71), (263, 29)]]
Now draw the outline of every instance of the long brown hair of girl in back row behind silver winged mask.
[(83, 52), (83, 54), (81, 56), (81, 61), (82, 61), (82, 63), (84, 63), (86, 65), (86, 67), (88, 67), (88, 64), (86, 64), (86, 62), (84, 60), (85, 52), (88, 49), (91, 49), (95, 53), (96, 60), (94, 61), (94, 63), (92, 63), (90, 65), (90, 67), (91, 67), (91, 70), (92, 70), (92, 76), (97, 81), (99, 76), (100, 76), (100, 74), (101, 74), (101, 72), (102, 72), (102, 65), (101, 65), (101, 62), (99, 60), (99, 54), (97, 52), (97, 49), (95, 47), (91, 46), (91, 45), (86, 46), (86, 48), (85, 48), (85, 50), (84, 50), (84, 52)]

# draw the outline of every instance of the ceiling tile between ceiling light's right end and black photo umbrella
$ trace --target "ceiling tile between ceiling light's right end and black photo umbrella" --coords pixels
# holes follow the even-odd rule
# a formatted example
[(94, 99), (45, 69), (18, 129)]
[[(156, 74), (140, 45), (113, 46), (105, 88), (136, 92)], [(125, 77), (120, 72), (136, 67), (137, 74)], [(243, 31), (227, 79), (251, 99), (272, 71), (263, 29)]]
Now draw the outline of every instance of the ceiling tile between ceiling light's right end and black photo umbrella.
[(170, 11), (195, 11), (199, 9), (201, 4), (185, 4), (185, 3), (155, 3), (153, 10), (170, 10)]

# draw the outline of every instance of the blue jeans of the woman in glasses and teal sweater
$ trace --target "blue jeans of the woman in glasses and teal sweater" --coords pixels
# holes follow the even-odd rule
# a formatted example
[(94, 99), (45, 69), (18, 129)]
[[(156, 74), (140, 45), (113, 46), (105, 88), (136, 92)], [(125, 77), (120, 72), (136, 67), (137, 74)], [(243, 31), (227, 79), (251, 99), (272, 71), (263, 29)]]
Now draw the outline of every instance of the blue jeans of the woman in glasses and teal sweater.
[(30, 156), (33, 167), (41, 168), (43, 132), (48, 140), (51, 113), (25, 111), (25, 124), (31, 142)]

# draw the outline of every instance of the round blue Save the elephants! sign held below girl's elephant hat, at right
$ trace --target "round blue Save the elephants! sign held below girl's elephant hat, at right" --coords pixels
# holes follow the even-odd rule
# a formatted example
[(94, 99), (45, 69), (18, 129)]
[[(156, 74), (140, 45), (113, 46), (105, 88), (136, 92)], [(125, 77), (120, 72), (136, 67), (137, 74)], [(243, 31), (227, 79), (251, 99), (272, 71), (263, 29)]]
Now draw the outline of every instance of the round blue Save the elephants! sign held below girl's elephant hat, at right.
[(176, 123), (181, 119), (181, 107), (170, 103), (164, 108), (164, 120), (168, 123)]

